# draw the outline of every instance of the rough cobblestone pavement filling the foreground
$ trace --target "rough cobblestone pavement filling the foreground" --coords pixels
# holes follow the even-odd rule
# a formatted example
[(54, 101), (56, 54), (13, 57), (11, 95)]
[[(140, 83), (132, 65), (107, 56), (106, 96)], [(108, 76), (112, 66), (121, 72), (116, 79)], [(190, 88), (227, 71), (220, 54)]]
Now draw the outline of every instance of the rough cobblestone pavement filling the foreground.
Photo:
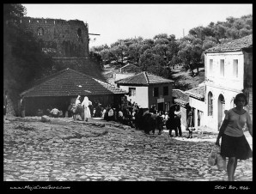
[[(207, 158), (216, 134), (146, 135), (116, 123), (71, 118), (4, 118), (4, 181), (226, 181)], [(157, 133), (156, 133), (157, 134)], [(251, 142), (252, 143), (252, 142)], [(253, 180), (253, 160), (237, 181)]]

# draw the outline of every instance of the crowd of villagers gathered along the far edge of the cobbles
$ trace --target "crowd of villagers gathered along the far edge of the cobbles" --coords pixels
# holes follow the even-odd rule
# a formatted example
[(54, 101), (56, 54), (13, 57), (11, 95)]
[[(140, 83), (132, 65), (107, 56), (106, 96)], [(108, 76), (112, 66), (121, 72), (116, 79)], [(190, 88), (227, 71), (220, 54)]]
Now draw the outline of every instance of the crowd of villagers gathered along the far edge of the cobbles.
[[(192, 108), (187, 106), (186, 109), (188, 110), (186, 130), (189, 131), (187, 138), (192, 138), (192, 130), (194, 130)], [(84, 96), (82, 100), (82, 97), (78, 95), (76, 102), (70, 104), (65, 114), (58, 108), (48, 109), (48, 115), (55, 118), (73, 117), (76, 120), (77, 115), (80, 115), (84, 121), (88, 121), (88, 118), (101, 118), (129, 125), (136, 130), (144, 130), (146, 134), (155, 134), (155, 130), (158, 130), (158, 135), (161, 135), (163, 129), (166, 128), (169, 130), (170, 137), (182, 136), (180, 106), (175, 104), (170, 106), (168, 112), (157, 111), (155, 106), (149, 109), (141, 108), (136, 102), (131, 103), (131, 100), (125, 107), (113, 105), (104, 107), (100, 101), (92, 102), (87, 96)], [(173, 130), (174, 135), (172, 135)]]

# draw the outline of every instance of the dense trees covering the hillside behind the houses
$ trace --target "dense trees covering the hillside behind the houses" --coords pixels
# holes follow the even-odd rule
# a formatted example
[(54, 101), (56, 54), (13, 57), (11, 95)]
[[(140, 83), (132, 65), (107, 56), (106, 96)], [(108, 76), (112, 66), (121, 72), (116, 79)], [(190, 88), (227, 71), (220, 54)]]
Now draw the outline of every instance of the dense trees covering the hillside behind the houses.
[(166, 33), (155, 35), (153, 39), (119, 39), (110, 46), (94, 46), (91, 52), (100, 55), (105, 64), (111, 61), (117, 64), (128, 62), (137, 64), (142, 70), (170, 78), (171, 72), (167, 67), (182, 63), (186, 70), (193, 72), (204, 64), (203, 52), (206, 49), (252, 33), (253, 15), (244, 15), (210, 22), (207, 27), (194, 27), (181, 39)]

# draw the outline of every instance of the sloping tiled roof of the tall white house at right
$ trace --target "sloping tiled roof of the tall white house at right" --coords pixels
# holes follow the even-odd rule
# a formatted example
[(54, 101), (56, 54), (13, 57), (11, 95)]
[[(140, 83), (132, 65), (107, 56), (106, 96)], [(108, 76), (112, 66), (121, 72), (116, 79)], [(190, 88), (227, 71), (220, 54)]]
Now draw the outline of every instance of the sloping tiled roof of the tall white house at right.
[(241, 39), (234, 39), (230, 42), (213, 46), (204, 52), (234, 52), (250, 47), (253, 47), (253, 34), (245, 36)]

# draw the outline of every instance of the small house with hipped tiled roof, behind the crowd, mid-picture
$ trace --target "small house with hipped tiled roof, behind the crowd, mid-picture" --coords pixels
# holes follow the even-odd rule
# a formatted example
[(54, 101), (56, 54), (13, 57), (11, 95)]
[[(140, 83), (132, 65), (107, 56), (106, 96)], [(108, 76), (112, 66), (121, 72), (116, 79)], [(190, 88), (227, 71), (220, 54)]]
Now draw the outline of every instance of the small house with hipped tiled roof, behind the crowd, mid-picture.
[(127, 100), (142, 108), (155, 106), (158, 111), (168, 112), (172, 105), (172, 80), (149, 74), (146, 71), (116, 81), (119, 88), (129, 92)]

